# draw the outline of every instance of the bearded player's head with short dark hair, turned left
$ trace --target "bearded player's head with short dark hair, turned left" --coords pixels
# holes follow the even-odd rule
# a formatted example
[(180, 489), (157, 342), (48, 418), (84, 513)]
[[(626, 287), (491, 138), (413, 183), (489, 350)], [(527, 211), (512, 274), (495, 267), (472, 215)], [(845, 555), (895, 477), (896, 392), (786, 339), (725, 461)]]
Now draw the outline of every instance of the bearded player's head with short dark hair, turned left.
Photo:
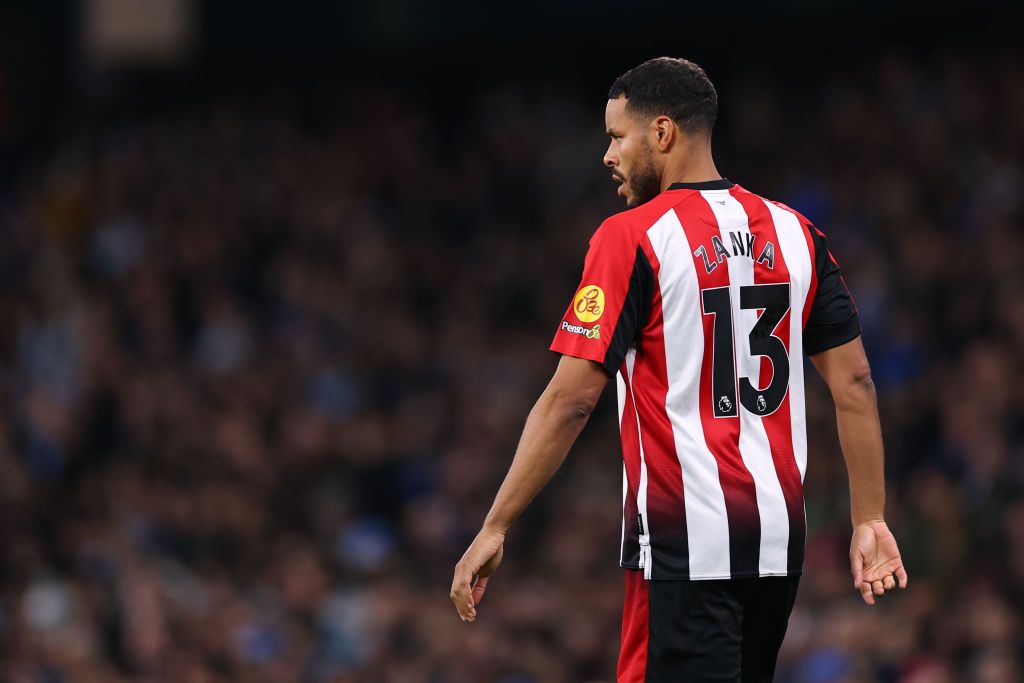
[(604, 165), (622, 182), (627, 206), (662, 191), (670, 159), (710, 150), (717, 113), (715, 86), (692, 61), (648, 59), (615, 79), (604, 112), (611, 136)]

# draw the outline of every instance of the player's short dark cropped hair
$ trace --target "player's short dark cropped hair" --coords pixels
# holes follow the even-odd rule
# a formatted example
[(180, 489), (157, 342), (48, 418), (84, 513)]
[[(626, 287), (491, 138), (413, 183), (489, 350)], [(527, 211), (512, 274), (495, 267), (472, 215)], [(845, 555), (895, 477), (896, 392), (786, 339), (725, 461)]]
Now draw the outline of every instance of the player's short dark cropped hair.
[(705, 70), (688, 59), (655, 57), (615, 79), (608, 99), (625, 96), (634, 115), (665, 115), (686, 133), (711, 134), (718, 92)]

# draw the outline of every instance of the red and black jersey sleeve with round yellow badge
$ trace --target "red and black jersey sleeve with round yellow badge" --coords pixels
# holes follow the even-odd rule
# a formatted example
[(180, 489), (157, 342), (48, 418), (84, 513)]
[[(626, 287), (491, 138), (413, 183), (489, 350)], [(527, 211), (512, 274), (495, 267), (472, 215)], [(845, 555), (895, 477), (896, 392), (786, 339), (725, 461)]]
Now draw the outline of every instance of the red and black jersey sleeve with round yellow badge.
[(653, 270), (623, 225), (605, 221), (590, 241), (583, 276), (551, 350), (601, 364), (614, 375), (643, 329)]

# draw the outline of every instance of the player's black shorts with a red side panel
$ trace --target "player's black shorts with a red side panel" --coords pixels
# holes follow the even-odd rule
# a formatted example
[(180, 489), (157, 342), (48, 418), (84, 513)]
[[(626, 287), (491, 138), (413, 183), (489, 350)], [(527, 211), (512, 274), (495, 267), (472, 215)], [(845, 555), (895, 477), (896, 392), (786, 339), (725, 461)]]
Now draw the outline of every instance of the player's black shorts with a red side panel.
[(626, 570), (618, 683), (768, 683), (800, 577), (645, 581)]

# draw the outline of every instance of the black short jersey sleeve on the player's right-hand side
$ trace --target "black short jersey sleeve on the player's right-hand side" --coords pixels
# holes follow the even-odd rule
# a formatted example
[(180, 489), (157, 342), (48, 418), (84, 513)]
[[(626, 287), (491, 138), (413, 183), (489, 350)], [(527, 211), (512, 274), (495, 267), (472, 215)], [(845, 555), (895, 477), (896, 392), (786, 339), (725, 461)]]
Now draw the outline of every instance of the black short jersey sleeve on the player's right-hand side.
[(825, 236), (813, 225), (807, 228), (814, 246), (817, 288), (804, 326), (804, 352), (813, 355), (856, 339), (860, 335), (860, 316), (839, 263), (828, 251)]

